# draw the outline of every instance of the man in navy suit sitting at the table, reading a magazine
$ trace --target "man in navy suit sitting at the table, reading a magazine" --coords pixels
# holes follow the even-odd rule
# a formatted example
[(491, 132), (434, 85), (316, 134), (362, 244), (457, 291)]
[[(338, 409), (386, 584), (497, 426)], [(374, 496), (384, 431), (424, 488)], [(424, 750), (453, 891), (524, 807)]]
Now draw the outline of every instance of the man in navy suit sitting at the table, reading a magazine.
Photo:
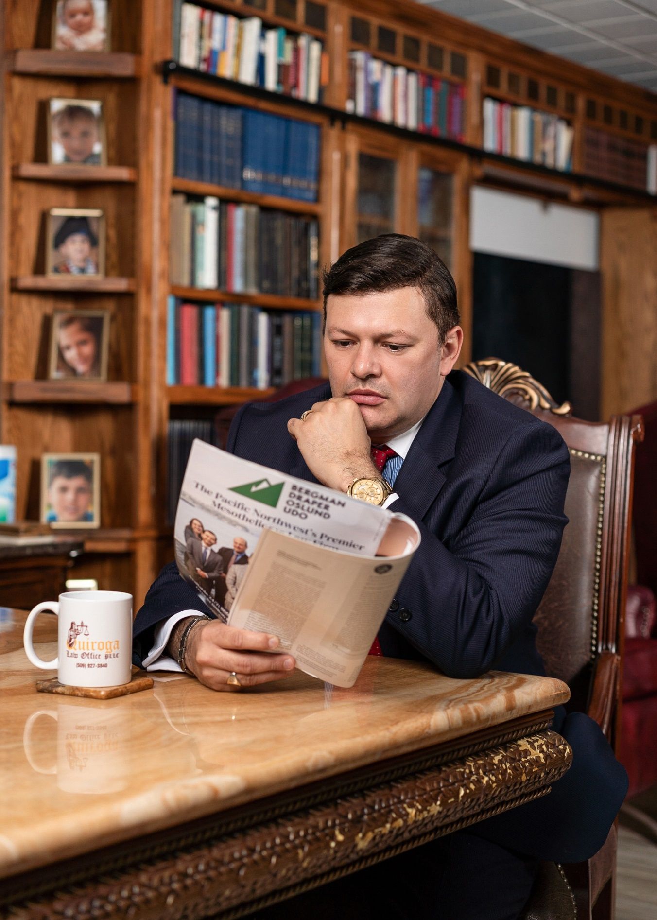
[[(420, 241), (389, 234), (350, 249), (325, 274), (324, 304), (329, 385), (240, 409), (228, 450), (374, 497), (418, 523), (421, 546), (374, 653), (430, 661), (455, 677), (493, 667), (544, 673), (532, 618), (567, 523), (570, 464), (559, 433), (453, 370), (463, 341), (455, 284)], [(165, 645), (175, 655), (198, 608), (175, 568), (164, 569), (135, 623), (146, 663)], [(184, 663), (217, 690), (233, 689), (232, 671), (259, 684), (294, 667), (290, 656), (259, 655), (275, 637), (236, 637), (201, 621), (189, 638)], [(582, 719), (569, 737), (573, 767), (546, 799), (359, 873), (313, 903), (317, 917), (323, 904), (334, 915), (336, 899), (347, 915), (353, 895), (359, 918), (513, 920), (537, 858), (593, 854), (625, 794), (622, 767)], [(560, 712), (557, 730), (565, 734), (567, 722)]]

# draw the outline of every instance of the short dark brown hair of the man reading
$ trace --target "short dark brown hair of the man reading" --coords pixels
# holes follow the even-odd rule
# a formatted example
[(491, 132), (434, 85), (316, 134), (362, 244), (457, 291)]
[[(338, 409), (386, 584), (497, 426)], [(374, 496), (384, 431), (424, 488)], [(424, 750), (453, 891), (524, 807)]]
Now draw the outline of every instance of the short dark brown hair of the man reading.
[(386, 233), (347, 249), (324, 270), (324, 326), (330, 294), (366, 294), (415, 287), (444, 341), (459, 323), (456, 285), (443, 259), (415, 236)]

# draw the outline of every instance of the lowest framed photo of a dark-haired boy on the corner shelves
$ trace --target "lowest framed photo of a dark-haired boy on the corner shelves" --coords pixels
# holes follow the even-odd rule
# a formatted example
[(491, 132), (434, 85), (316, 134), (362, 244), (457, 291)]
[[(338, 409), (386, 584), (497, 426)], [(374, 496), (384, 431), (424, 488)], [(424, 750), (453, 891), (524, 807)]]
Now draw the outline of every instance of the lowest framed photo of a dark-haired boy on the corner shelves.
[(43, 454), (40, 507), (51, 527), (98, 527), (100, 454)]

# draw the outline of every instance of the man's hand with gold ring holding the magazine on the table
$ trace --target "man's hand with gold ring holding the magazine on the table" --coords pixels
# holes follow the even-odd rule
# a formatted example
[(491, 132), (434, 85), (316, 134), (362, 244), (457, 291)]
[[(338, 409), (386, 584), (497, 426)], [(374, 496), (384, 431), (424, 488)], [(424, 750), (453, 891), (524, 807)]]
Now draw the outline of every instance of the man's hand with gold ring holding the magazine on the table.
[[(179, 648), (179, 638), (188, 620), (176, 624), (170, 646)], [(276, 636), (236, 629), (219, 620), (198, 623), (190, 630), (185, 650), (185, 664), (202, 684), (212, 690), (239, 690), (226, 684), (235, 672), (242, 686), (269, 684), (288, 677), (294, 670), (292, 655), (273, 655), (280, 642)], [(270, 651), (267, 651), (270, 650)], [(173, 648), (172, 648), (173, 652)]]

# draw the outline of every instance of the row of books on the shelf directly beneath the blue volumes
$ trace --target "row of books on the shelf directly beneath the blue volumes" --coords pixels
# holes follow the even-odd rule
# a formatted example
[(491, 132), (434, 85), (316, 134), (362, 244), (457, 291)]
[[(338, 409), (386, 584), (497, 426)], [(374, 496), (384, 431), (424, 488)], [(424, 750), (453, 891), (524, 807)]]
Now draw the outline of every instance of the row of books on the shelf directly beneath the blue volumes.
[(316, 299), (318, 233), (314, 217), (177, 193), (171, 198), (169, 282)]

